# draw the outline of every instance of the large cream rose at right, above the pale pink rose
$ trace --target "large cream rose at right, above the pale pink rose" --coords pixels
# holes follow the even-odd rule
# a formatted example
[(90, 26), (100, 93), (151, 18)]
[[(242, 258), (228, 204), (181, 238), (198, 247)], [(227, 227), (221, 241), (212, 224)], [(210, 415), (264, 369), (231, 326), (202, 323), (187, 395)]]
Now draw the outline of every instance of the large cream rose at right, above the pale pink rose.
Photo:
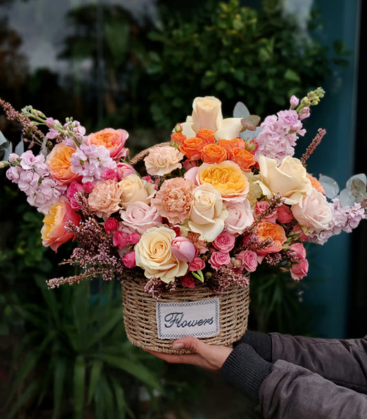
[(285, 198), (284, 203), (293, 205), (300, 201), (300, 198), (311, 187), (306, 169), (299, 159), (286, 156), (277, 167), (275, 159), (260, 156), (258, 163), (261, 181), (259, 185), (267, 198), (280, 193)]

